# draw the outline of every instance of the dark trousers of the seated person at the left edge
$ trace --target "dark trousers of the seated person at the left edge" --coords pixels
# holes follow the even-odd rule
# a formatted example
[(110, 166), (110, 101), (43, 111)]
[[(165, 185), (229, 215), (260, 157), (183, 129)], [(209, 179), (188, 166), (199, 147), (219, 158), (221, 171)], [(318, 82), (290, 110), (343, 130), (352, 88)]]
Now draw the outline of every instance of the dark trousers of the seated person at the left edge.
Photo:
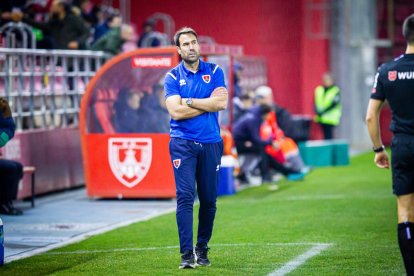
[(22, 177), (22, 164), (12, 160), (0, 159), (0, 204), (16, 199)]

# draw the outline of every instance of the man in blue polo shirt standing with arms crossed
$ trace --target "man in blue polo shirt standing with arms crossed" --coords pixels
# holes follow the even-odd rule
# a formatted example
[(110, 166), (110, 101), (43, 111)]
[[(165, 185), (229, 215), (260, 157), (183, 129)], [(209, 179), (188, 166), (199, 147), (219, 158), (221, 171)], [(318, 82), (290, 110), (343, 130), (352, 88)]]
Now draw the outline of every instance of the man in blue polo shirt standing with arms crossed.
[(223, 70), (200, 59), (197, 33), (189, 27), (174, 36), (182, 62), (165, 76), (165, 98), (171, 116), (170, 155), (177, 193), (180, 239), (179, 268), (194, 268), (193, 205), (195, 182), (200, 200), (195, 253), (197, 265), (209, 266), (207, 243), (216, 214), (217, 186), (223, 142), (218, 111), (227, 108)]

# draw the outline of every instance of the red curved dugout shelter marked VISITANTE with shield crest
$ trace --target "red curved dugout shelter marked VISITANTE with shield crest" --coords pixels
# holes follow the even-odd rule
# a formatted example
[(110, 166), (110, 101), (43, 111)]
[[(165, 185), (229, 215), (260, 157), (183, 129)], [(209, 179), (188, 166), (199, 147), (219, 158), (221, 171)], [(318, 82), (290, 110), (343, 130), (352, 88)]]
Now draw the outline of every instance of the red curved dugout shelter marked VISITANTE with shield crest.
[(175, 47), (139, 49), (108, 61), (82, 98), (80, 133), (88, 195), (172, 198), (165, 74)]

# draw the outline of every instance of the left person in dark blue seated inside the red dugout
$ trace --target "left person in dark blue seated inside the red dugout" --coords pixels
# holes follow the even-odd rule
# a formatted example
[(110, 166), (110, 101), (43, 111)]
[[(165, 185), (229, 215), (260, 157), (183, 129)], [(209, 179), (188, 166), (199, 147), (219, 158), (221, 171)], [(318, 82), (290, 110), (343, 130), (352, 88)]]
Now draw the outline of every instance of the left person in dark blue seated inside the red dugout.
[(148, 130), (148, 121), (144, 119), (146, 112), (141, 108), (144, 92), (122, 88), (114, 103), (113, 124), (118, 133), (142, 133)]

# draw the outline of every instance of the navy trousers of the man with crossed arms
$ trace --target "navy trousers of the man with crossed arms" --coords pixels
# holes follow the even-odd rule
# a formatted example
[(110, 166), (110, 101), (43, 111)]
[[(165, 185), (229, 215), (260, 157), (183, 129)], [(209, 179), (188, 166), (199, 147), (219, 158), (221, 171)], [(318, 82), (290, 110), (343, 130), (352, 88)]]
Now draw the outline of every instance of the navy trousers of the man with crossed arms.
[(202, 144), (171, 138), (170, 155), (177, 194), (180, 252), (193, 250), (195, 182), (200, 201), (197, 243), (207, 244), (213, 232), (223, 142)]

